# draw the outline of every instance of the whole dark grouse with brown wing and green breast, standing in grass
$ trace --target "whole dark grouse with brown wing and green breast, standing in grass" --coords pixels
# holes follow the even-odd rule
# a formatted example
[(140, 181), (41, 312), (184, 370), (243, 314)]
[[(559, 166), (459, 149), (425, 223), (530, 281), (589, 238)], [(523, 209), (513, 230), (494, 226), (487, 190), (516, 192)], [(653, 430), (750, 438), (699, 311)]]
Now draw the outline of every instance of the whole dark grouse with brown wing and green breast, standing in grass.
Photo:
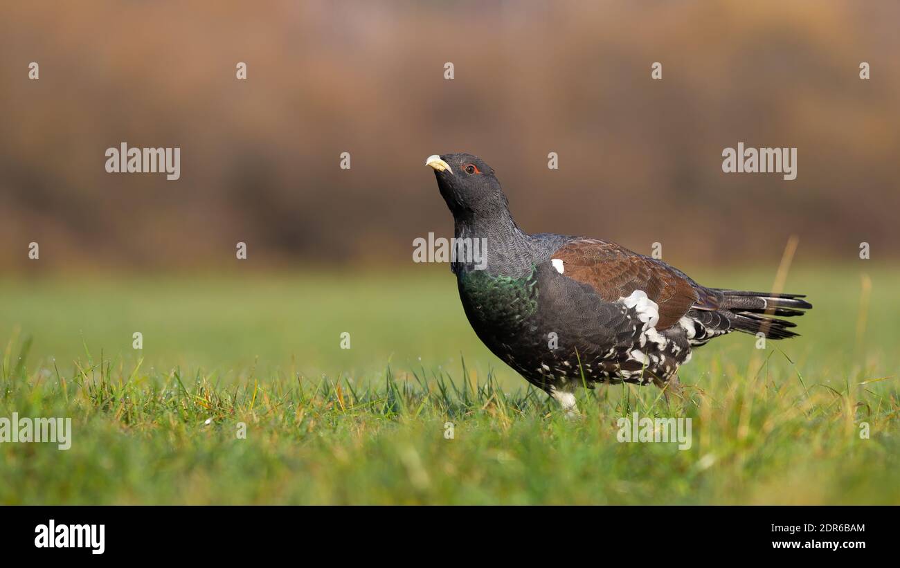
[(772, 317), (812, 306), (797, 294), (707, 288), (609, 241), (528, 235), (493, 169), (470, 154), (428, 156), (454, 216), (453, 271), (478, 337), (567, 413), (576, 387), (622, 381), (679, 389), (691, 351), (734, 331), (794, 337)]

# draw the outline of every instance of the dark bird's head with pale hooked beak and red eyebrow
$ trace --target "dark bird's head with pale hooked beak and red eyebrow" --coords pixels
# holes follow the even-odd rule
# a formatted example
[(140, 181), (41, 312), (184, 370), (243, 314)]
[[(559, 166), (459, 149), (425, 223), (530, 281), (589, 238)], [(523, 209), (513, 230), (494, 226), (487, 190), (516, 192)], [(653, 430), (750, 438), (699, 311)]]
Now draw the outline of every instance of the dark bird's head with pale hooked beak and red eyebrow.
[(425, 164), (434, 168), (437, 188), (457, 219), (491, 217), (509, 205), (494, 169), (471, 154), (429, 155)]

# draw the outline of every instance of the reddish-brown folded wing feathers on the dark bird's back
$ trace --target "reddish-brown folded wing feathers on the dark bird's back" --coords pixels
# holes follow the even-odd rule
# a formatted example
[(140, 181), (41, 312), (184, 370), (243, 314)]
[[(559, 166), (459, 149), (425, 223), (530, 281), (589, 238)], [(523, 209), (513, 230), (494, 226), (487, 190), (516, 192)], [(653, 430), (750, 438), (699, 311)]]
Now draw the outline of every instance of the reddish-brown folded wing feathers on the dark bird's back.
[(564, 276), (589, 284), (608, 302), (644, 290), (660, 306), (659, 330), (678, 322), (702, 290), (668, 265), (615, 243), (580, 239), (564, 244), (551, 258), (563, 261)]

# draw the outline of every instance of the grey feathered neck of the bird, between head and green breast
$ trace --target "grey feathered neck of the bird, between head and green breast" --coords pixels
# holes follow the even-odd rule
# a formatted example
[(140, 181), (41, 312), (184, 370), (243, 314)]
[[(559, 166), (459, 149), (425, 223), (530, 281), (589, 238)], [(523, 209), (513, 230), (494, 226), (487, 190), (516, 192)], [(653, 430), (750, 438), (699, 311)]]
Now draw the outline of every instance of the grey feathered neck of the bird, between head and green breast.
[[(454, 271), (487, 271), (491, 275), (521, 277), (536, 261), (534, 239), (520, 229), (509, 211), (491, 217), (455, 218), (457, 247), (470, 247), (473, 256), (457, 254)], [(460, 250), (457, 248), (457, 250)]]

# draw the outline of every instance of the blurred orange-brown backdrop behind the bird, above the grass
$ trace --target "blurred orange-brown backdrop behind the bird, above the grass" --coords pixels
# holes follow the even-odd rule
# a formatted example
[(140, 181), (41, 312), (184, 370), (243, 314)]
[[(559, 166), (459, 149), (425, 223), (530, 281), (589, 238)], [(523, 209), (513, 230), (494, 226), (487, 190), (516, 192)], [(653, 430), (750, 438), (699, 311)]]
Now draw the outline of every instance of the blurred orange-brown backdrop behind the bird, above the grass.
[[(409, 264), (452, 232), (424, 160), (454, 151), (531, 232), (689, 265), (772, 264), (792, 233), (809, 259), (896, 258), (898, 22), (887, 1), (4, 2), (0, 271), (35, 270), (31, 241), (53, 270), (216, 269), (238, 241), (264, 266)], [(123, 141), (180, 146), (181, 179), (106, 173)], [(722, 173), (740, 141), (797, 146), (797, 180)]]

